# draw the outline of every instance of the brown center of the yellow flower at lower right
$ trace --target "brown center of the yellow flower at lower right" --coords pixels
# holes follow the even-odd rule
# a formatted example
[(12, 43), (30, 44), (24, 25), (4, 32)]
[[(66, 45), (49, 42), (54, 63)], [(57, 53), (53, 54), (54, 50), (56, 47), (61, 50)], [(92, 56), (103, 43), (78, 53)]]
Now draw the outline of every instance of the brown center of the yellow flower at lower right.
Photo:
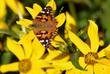
[(94, 65), (97, 63), (96, 59), (98, 59), (98, 54), (94, 52), (89, 52), (85, 55), (85, 63), (88, 65)]

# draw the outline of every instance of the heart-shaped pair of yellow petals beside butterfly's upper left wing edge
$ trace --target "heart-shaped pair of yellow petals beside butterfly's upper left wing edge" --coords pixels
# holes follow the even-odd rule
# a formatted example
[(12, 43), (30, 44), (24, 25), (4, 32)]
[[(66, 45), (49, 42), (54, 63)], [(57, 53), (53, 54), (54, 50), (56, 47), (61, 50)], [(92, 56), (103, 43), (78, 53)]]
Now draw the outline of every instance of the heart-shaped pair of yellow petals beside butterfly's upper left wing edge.
[(26, 9), (28, 10), (28, 12), (31, 14), (32, 18), (34, 19), (38, 13), (42, 10), (41, 6), (38, 4), (34, 4), (33, 5), (33, 9), (30, 7), (26, 7)]

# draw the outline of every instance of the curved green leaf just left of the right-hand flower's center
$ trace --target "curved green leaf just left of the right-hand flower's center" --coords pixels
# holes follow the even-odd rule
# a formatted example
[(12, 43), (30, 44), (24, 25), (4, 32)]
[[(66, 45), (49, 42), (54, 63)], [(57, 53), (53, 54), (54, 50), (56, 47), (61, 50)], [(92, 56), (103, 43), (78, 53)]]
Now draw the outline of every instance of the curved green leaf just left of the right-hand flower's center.
[(73, 54), (71, 57), (72, 64), (80, 70), (86, 71), (84, 68), (82, 68), (79, 64), (79, 56), (80, 56), (80, 51), (76, 51), (76, 53)]

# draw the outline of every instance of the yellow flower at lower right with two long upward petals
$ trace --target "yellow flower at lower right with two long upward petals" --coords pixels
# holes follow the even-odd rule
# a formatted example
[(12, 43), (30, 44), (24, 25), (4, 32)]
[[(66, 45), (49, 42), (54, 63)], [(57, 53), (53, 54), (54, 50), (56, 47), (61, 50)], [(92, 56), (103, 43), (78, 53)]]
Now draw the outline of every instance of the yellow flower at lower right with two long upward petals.
[(84, 54), (79, 58), (79, 64), (87, 71), (78, 70), (75, 67), (68, 70), (67, 74), (108, 74), (110, 66), (105, 56), (105, 50), (110, 49), (110, 45), (106, 48), (98, 51), (99, 49), (99, 37), (98, 27), (94, 21), (89, 20), (88, 36), (90, 39), (90, 47), (83, 42), (78, 36), (71, 31), (68, 31), (70, 40), (77, 46), (77, 48)]

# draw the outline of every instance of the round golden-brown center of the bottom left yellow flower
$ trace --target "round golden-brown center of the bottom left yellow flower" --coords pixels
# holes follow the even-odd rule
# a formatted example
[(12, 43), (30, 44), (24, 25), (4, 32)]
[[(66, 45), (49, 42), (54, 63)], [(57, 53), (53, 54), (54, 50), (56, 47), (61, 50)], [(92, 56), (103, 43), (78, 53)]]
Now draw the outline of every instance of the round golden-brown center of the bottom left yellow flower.
[(26, 73), (26, 72), (30, 71), (32, 64), (29, 59), (24, 59), (19, 62), (18, 67), (19, 67), (20, 72)]

